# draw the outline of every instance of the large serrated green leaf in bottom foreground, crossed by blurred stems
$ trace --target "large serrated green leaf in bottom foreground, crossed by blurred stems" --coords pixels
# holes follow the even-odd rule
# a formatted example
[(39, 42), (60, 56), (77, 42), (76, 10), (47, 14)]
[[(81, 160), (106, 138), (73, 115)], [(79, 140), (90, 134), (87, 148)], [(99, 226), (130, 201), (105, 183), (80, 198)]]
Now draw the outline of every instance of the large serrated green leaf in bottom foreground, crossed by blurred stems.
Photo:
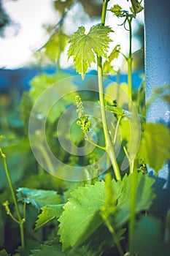
[[(150, 207), (155, 197), (151, 188), (153, 182), (152, 178), (138, 174), (136, 213)], [(112, 180), (112, 191), (115, 200), (114, 223), (115, 227), (120, 227), (130, 217), (131, 175), (125, 176), (123, 181)], [(61, 235), (63, 250), (82, 244), (103, 223), (100, 211), (106, 206), (106, 197), (104, 181), (79, 187), (72, 192), (72, 197), (58, 219), (58, 235)]]

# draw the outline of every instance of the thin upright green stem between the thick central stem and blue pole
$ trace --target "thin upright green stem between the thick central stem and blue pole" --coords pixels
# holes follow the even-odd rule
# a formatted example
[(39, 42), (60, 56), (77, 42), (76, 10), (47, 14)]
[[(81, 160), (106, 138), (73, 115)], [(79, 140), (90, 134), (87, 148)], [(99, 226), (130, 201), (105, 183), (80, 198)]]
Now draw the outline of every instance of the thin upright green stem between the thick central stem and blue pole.
[(131, 99), (132, 99), (132, 82), (131, 82), (131, 75), (132, 75), (132, 52), (131, 52), (131, 43), (132, 43), (132, 29), (131, 29), (131, 21), (132, 18), (128, 18), (128, 26), (129, 26), (129, 53), (128, 53), (128, 97), (130, 98), (129, 101), (129, 110), (131, 110)]

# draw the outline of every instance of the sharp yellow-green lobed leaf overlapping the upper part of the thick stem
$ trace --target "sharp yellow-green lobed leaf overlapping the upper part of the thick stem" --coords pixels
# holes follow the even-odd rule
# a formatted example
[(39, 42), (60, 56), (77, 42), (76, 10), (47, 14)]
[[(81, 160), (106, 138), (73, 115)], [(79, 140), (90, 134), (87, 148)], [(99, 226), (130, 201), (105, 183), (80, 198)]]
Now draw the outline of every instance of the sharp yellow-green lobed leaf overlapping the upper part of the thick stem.
[(108, 45), (112, 42), (108, 37), (110, 32), (112, 29), (109, 26), (97, 25), (85, 34), (85, 27), (81, 26), (69, 40), (68, 57), (73, 57), (74, 67), (82, 75), (82, 79), (85, 78), (91, 63), (96, 62), (95, 53), (98, 57), (107, 58)]

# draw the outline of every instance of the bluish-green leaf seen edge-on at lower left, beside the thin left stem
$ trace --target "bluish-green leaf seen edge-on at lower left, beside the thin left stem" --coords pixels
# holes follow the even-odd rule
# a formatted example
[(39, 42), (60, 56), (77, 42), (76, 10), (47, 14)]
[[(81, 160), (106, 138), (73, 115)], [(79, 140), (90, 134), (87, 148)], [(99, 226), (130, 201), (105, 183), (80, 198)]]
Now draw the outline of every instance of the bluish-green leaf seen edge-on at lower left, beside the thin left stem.
[(18, 200), (31, 203), (37, 210), (43, 206), (56, 205), (61, 203), (61, 197), (53, 190), (28, 189), (20, 187), (18, 189)]

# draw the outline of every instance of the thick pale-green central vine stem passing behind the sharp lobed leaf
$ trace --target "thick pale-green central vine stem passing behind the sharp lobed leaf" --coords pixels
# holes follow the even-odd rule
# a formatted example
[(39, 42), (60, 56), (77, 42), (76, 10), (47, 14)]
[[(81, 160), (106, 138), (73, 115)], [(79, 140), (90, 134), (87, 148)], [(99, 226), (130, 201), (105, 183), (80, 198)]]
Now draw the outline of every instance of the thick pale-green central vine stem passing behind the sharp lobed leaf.
[[(106, 19), (106, 13), (107, 13), (107, 4), (108, 0), (103, 1), (103, 7), (102, 7), (102, 13), (101, 13), (101, 25), (104, 26), (105, 19)], [(101, 120), (103, 124), (104, 129), (104, 138), (105, 138), (105, 145), (106, 145), (106, 151), (109, 155), (109, 158), (112, 162), (112, 167), (115, 172), (115, 177), (117, 181), (121, 180), (120, 176), (120, 170), (117, 165), (116, 157), (115, 157), (115, 151), (112, 145), (112, 142), (109, 138), (109, 131), (107, 127), (107, 118), (106, 118), (106, 112), (104, 107), (104, 88), (103, 88), (103, 71), (102, 71), (102, 58), (98, 57), (98, 95), (99, 95), (99, 101), (100, 101), (100, 107), (101, 107)]]

